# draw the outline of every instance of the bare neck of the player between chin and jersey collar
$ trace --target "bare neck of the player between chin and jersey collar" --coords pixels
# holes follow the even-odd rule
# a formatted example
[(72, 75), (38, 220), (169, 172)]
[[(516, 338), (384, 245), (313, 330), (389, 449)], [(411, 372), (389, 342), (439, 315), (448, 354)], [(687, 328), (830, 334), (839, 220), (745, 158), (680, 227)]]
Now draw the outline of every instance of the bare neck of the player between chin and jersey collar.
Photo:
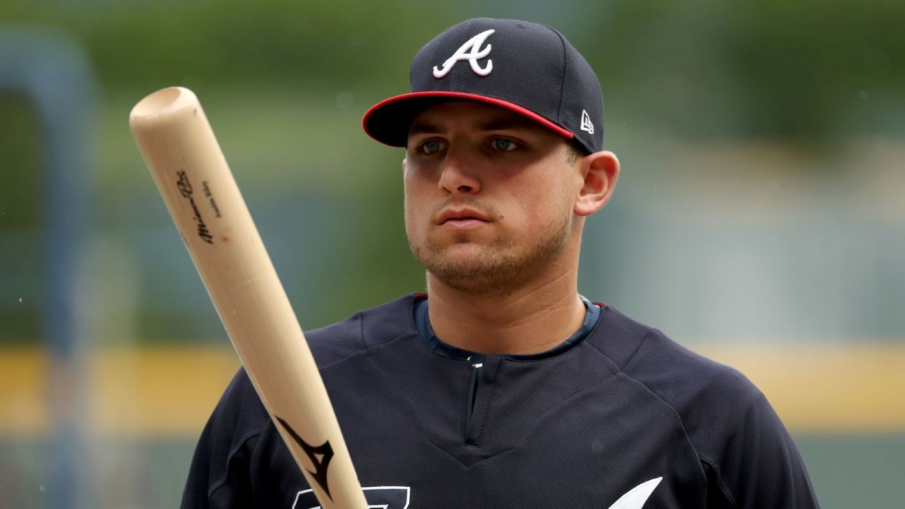
[(431, 327), (438, 338), (467, 351), (548, 351), (585, 320), (577, 276), (577, 264), (554, 267), (510, 293), (484, 295), (455, 290), (428, 273)]

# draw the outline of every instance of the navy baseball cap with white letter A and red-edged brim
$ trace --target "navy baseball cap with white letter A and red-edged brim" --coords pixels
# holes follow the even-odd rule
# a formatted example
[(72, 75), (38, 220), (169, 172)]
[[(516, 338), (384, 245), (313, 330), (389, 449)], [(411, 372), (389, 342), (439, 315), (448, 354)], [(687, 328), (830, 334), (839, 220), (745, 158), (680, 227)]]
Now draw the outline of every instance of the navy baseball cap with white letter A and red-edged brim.
[(600, 82), (563, 34), (543, 24), (476, 18), (447, 28), (415, 56), (411, 91), (365, 113), (368, 136), (405, 147), (412, 120), (443, 101), (470, 100), (515, 111), (576, 139), (588, 153), (603, 149)]

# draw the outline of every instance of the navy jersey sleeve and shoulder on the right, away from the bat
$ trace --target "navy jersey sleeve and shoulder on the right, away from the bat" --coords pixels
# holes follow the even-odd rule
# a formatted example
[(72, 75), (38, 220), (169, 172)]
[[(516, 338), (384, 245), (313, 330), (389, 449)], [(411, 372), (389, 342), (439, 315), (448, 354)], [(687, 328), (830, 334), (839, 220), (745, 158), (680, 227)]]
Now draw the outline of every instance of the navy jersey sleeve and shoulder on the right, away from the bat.
[(819, 507), (792, 437), (747, 377), (612, 309), (601, 321), (612, 331), (601, 351), (681, 420), (707, 476), (709, 509)]

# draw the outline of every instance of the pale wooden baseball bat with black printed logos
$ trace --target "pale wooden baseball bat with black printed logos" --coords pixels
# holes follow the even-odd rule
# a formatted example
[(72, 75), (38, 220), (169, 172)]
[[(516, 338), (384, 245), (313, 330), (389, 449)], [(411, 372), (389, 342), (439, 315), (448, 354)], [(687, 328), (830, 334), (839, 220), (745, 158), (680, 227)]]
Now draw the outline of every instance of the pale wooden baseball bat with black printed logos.
[(258, 395), (324, 509), (367, 502), (318, 367), (192, 91), (156, 91), (129, 127)]

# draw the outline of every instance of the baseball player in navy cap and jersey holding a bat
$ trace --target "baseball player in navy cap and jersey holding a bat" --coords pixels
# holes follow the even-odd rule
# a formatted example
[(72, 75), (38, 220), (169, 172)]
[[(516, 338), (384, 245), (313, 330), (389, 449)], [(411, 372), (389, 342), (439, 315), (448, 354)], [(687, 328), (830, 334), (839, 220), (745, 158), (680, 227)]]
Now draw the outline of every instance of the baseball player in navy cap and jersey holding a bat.
[[(306, 335), (371, 507), (818, 507), (748, 379), (576, 292), (619, 162), (595, 72), (562, 34), (456, 24), (363, 124), (405, 148), (427, 293)], [(319, 507), (243, 370), (183, 507)]]

